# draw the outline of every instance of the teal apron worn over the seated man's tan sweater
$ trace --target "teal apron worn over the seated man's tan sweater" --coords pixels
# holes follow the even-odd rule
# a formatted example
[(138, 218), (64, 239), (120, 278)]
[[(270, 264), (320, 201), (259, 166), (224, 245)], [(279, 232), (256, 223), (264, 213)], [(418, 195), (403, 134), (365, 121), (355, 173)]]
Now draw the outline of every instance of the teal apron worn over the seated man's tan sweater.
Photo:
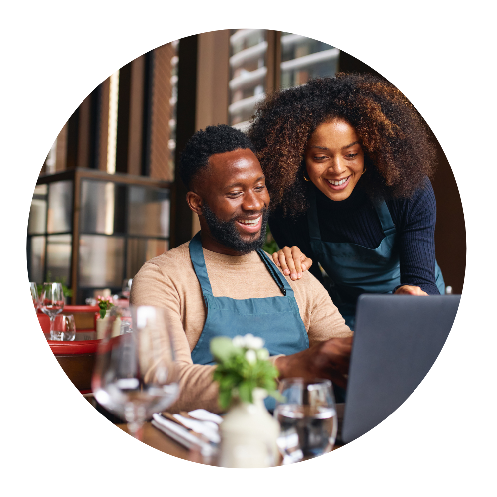
[[(202, 334), (191, 353), (194, 364), (215, 364), (209, 348), (215, 336), (234, 338), (247, 333), (260, 336), (269, 355), (291, 355), (309, 348), (309, 339), (292, 287), (263, 250), (258, 249), (257, 253), (283, 294), (280, 297), (259, 299), (214, 297), (205, 266), (200, 232), (193, 237), (189, 249), (207, 307)], [(266, 399), (268, 409), (274, 407), (270, 399)]]

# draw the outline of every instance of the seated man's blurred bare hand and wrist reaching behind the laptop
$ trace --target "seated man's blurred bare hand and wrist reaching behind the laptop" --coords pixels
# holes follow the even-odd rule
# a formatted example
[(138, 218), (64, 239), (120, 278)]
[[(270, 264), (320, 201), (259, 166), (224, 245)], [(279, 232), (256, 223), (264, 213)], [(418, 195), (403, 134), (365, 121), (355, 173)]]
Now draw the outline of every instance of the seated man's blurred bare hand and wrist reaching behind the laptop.
[(347, 387), (348, 366), (353, 338), (331, 338), (297, 354), (278, 357), (274, 365), (280, 378), (315, 378), (331, 380), (339, 387)]

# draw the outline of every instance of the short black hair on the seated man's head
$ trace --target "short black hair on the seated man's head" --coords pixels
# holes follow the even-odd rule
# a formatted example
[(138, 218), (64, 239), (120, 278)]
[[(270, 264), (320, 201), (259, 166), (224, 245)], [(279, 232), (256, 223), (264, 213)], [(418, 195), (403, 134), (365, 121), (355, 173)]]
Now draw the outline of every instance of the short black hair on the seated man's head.
[(218, 124), (197, 131), (186, 143), (179, 159), (179, 175), (183, 183), (191, 189), (194, 177), (200, 169), (207, 167), (212, 155), (238, 149), (250, 149), (255, 153), (250, 138), (237, 128)]

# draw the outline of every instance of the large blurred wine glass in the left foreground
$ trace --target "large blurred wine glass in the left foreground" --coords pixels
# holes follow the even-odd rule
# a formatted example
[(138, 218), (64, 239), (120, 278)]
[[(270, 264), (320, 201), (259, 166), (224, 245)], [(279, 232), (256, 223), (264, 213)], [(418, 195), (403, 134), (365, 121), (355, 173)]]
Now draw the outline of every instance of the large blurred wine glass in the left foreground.
[[(178, 397), (178, 368), (168, 312), (151, 306), (128, 309), (111, 309), (91, 386), (97, 402), (125, 419), (128, 431), (141, 439), (145, 421)], [(117, 318), (121, 319), (121, 334), (112, 338)]]

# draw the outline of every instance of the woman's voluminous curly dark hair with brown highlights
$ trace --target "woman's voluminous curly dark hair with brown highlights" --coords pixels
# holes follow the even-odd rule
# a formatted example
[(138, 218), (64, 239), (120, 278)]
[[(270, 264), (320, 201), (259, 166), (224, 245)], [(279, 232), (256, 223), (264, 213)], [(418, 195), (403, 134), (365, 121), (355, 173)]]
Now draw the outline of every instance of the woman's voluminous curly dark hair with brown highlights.
[[(324, 122), (353, 126), (364, 150), (369, 196), (409, 198), (432, 178), (436, 150), (424, 120), (392, 84), (369, 74), (337, 73), (268, 95), (256, 109), (248, 136), (260, 161), (272, 207), (294, 215), (307, 210), (307, 142)], [(359, 185), (358, 185), (359, 186)]]

